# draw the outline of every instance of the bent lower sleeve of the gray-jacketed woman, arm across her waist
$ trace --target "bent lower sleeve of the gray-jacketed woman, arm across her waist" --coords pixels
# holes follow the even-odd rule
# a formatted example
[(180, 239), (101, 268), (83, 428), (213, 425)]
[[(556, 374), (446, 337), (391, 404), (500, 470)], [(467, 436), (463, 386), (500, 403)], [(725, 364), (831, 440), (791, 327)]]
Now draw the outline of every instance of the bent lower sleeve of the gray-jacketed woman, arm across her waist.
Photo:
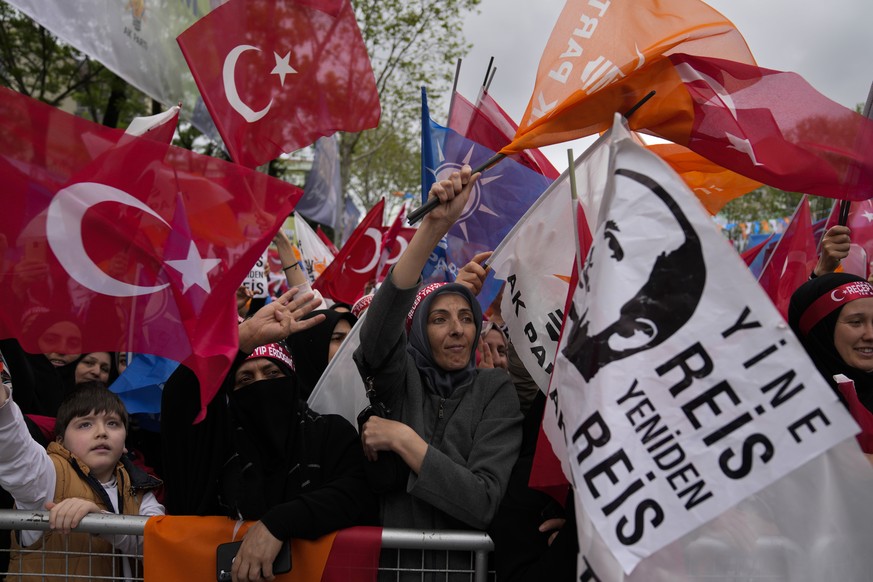
[(476, 424), (475, 444), (467, 464), (428, 447), (421, 472), (410, 475), (409, 493), (472, 527), (486, 529), (497, 513), (518, 458), (521, 422), (518, 397), (506, 378)]

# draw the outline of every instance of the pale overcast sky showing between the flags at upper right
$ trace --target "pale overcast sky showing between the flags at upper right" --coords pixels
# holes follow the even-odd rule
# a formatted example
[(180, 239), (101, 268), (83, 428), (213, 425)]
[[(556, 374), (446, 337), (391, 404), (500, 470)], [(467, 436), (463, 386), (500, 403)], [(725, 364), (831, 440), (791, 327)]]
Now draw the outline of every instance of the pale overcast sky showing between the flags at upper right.
[[(461, 94), (475, 100), (493, 56), (497, 72), (490, 93), (518, 122), (530, 99), (540, 55), (564, 4), (564, 0), (482, 0), (480, 13), (471, 15), (464, 27), (473, 48), (461, 66)], [(759, 66), (799, 73), (820, 93), (846, 107), (867, 99), (873, 83), (873, 1), (710, 0), (708, 4), (736, 25)], [(445, 122), (437, 112), (433, 114), (435, 121)], [(578, 156), (591, 141), (571, 142), (574, 154)], [(567, 167), (567, 147), (543, 148), (559, 171)]]

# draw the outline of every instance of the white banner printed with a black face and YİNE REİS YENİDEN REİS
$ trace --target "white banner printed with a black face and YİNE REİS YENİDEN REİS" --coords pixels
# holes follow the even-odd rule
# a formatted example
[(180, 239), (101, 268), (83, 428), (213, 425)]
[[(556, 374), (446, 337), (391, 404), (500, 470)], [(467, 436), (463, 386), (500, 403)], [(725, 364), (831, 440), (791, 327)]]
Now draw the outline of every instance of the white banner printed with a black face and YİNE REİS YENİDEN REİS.
[(857, 426), (687, 186), (620, 123), (550, 406), (577, 506), (629, 573)]

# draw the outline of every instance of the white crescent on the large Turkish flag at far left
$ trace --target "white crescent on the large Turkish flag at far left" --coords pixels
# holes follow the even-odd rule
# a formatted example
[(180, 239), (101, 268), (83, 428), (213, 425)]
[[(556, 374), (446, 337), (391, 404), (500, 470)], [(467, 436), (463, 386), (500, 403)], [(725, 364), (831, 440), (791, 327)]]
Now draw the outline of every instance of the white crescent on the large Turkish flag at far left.
[(94, 182), (80, 182), (60, 190), (49, 204), (46, 238), (61, 266), (75, 281), (91, 291), (112, 297), (150, 295), (169, 286), (131, 285), (110, 277), (94, 264), (82, 241), (82, 218), (89, 208), (101, 202), (118, 202), (146, 212), (169, 228), (167, 221), (127, 192)]

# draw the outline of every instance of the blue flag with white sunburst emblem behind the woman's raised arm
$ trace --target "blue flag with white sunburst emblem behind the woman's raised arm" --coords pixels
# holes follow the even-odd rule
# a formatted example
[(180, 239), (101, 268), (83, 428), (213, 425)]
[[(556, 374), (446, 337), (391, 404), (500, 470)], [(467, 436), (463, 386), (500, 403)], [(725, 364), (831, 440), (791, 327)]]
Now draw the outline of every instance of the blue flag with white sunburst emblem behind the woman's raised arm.
[[(422, 90), (422, 111), (426, 97)], [(464, 164), (476, 168), (494, 156), (492, 150), (428, 119), (422, 120), (422, 196), (427, 184), (448, 176)], [(425, 152), (430, 152), (430, 159)], [(552, 181), (511, 159), (504, 159), (479, 178), (460, 218), (430, 256), (422, 277), (426, 282), (454, 281), (458, 270), (474, 255), (494, 250), (519, 218)], [(500, 289), (489, 275), (479, 302), (487, 308)]]

